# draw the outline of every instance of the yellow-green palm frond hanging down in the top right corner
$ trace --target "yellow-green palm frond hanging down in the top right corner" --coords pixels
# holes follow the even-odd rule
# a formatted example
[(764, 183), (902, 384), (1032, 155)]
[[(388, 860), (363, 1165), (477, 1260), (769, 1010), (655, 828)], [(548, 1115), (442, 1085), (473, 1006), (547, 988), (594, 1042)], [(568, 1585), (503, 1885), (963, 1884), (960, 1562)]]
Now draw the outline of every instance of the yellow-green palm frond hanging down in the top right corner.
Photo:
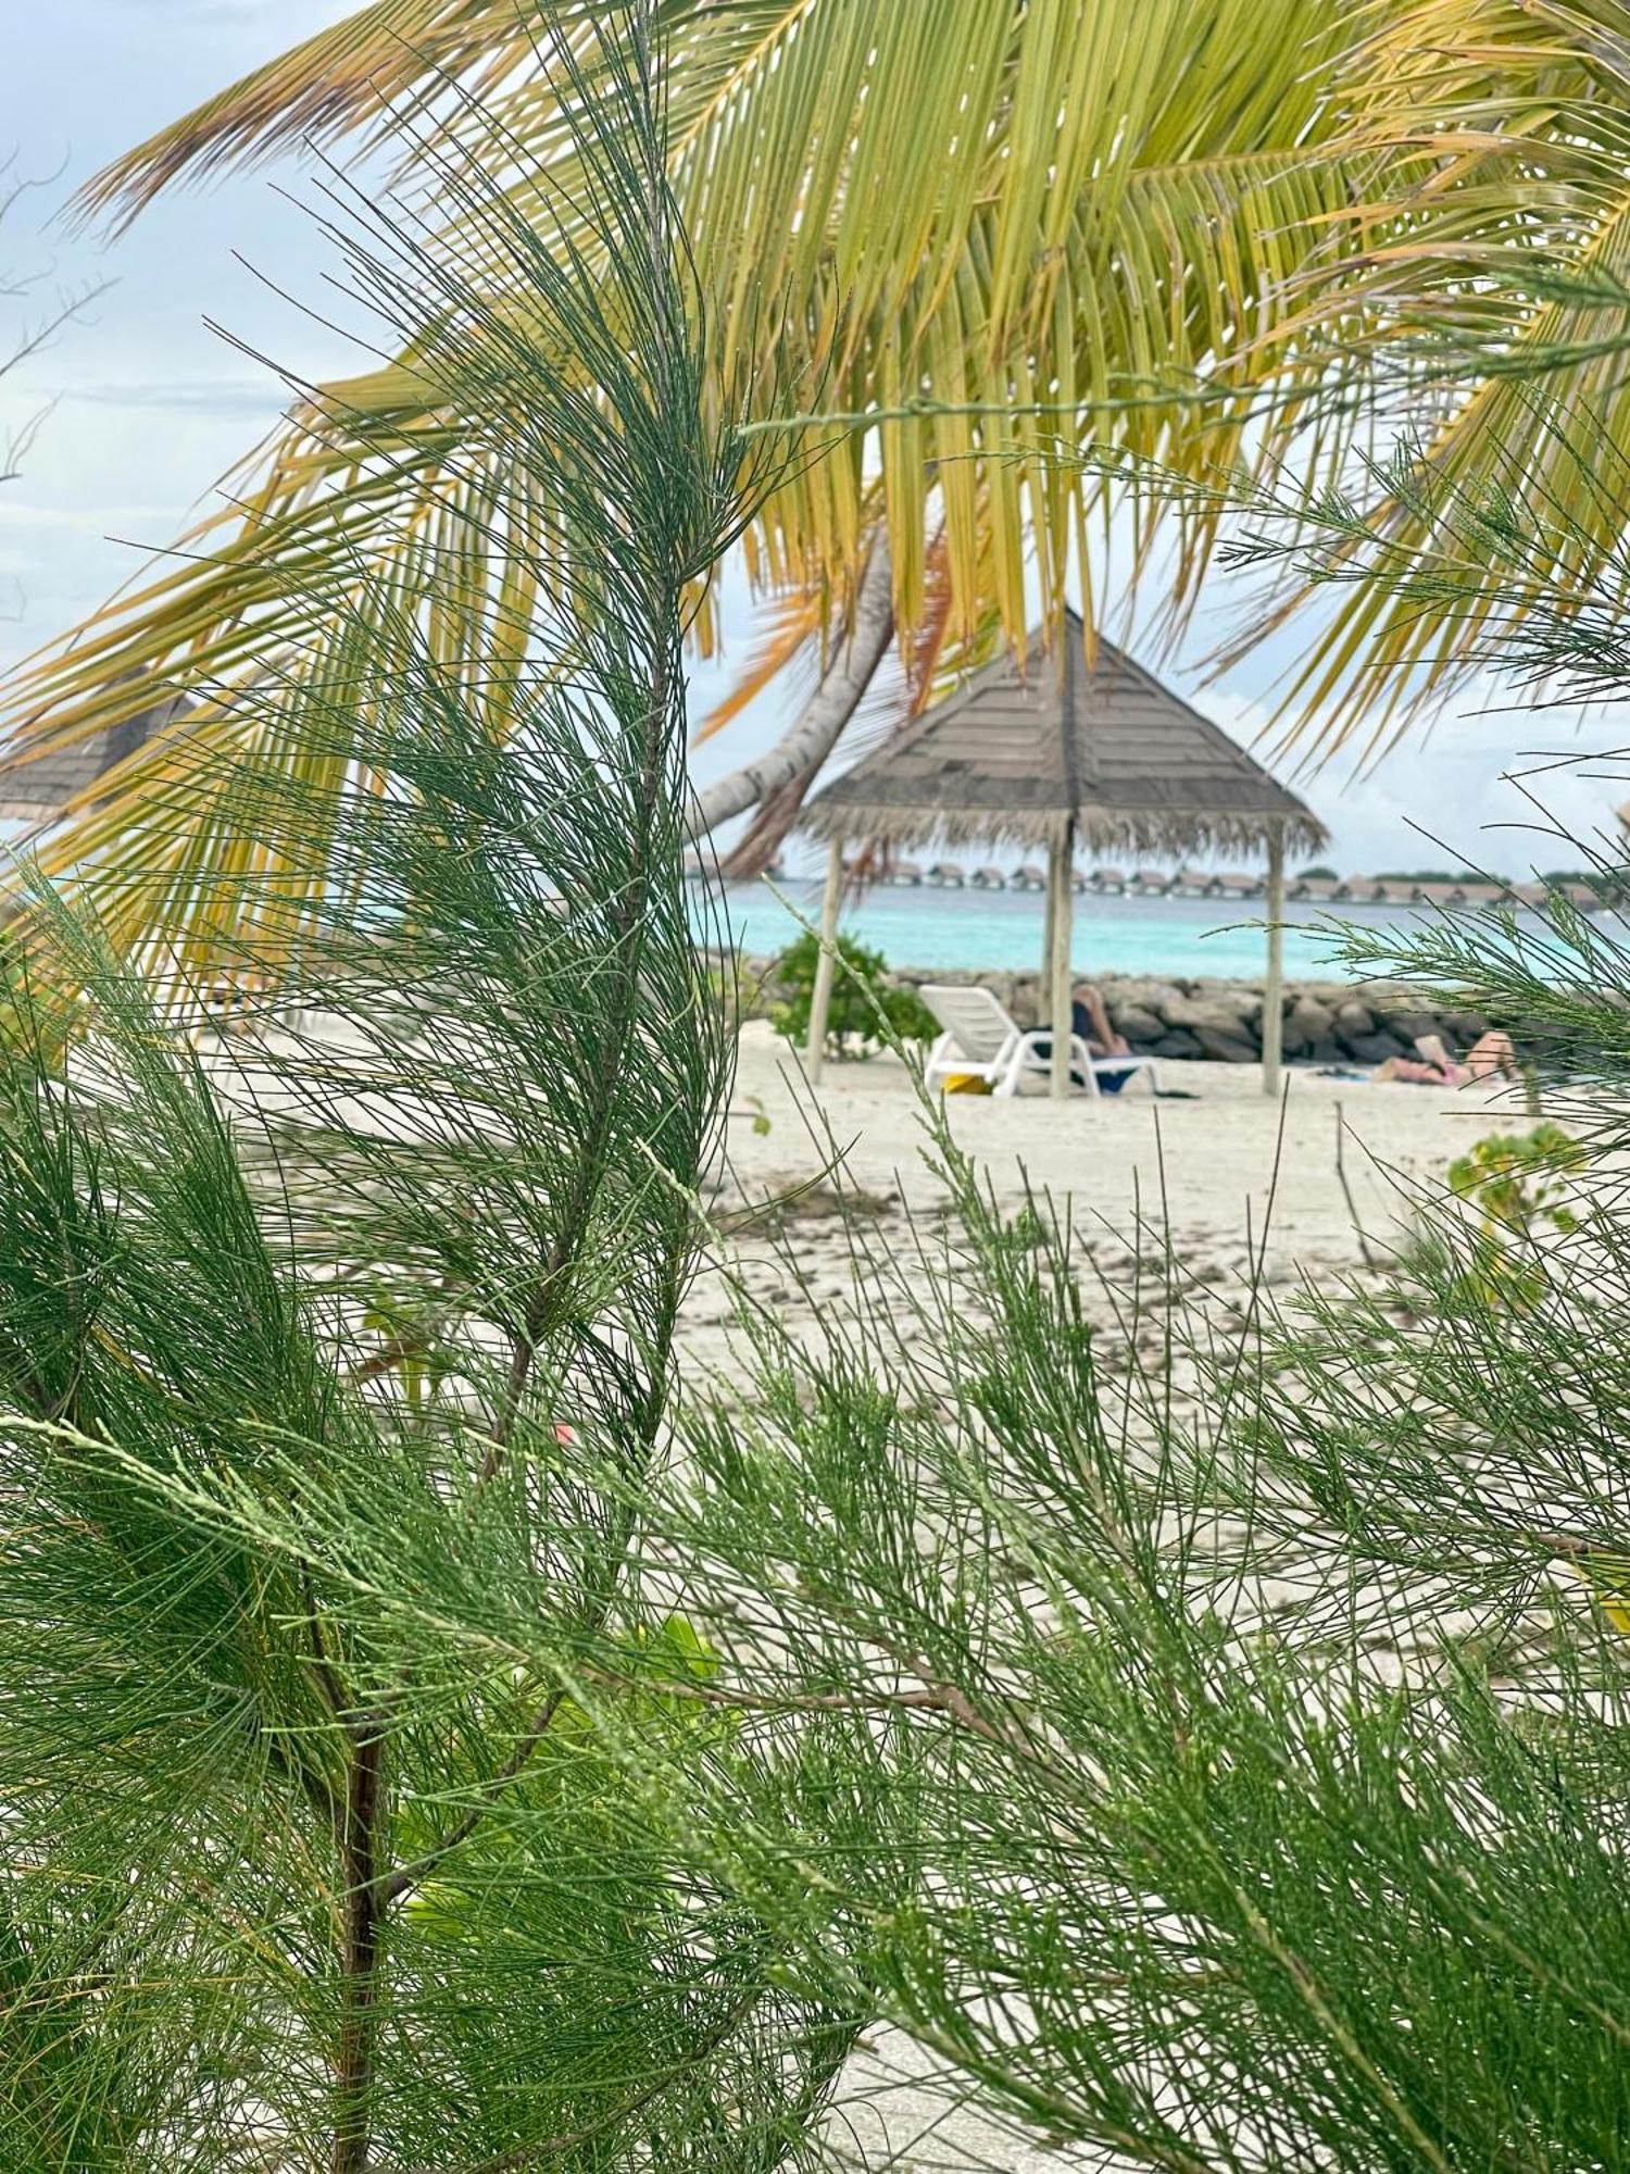
[[(1395, 493), (1371, 470), (1367, 535), (1334, 552), (1337, 570), (1374, 565), (1374, 544), (1397, 578), (1343, 585), (1308, 644), (1284, 722), (1315, 752), (1354, 735), (1384, 750), (1521, 617), (1524, 565), (1484, 554), (1497, 524), (1450, 522), (1447, 507), (1510, 500), (1547, 528), (1543, 607), (1558, 620), (1569, 591), (1578, 609), (1600, 602), (1623, 539), (1623, 500), (1597, 483), (1630, 448), (1630, 7), (1421, 0), (1371, 50), (1395, 130), (1443, 141), (1454, 117), (1458, 185), (1450, 217), (1371, 254), (1393, 365), (1430, 387), (1410, 463), (1430, 487)], [(1476, 559), (1460, 554), (1471, 528)], [(1239, 648), (1302, 602), (1287, 587)]]

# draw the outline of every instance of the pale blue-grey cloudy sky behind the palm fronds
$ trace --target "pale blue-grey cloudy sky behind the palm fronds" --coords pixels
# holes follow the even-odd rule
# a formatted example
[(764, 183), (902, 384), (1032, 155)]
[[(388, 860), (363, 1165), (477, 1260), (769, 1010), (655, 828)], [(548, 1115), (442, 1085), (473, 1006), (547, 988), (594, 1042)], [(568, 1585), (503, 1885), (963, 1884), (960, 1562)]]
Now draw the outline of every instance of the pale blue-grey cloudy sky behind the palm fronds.
[[(330, 270), (309, 209), (311, 176), (298, 161), (174, 191), (122, 235), (80, 233), (61, 220), (74, 187), (106, 159), (298, 37), (339, 22), (350, 4), (52, 0), (13, 11), (0, 159), (11, 159), (13, 178), (37, 187), (0, 224), (0, 354), (59, 298), (87, 300), (39, 354), (0, 378), (0, 446), (17, 430), (33, 433), (20, 478), (0, 485), (0, 672), (130, 580), (276, 426), (285, 400), (276, 374), (211, 324), (296, 376), (352, 367), (339, 335), (287, 300), (324, 302)], [(20, 285), (24, 291), (9, 291)], [(1293, 661), (1300, 637), (1256, 652), (1221, 683), (1202, 683), (1200, 657), (1237, 609), (1237, 594), (1208, 589), (1187, 648), (1158, 670), (1250, 744), (1274, 713), (1276, 674)], [(726, 633), (739, 659), (752, 639), (739, 578), (726, 583)], [(715, 670), (695, 674), (698, 713), (722, 685)], [(765, 698), (698, 754), (698, 776), (758, 752), (785, 722), (785, 698)], [(1352, 761), (1302, 776), (1293, 776), (1293, 759), (1276, 759), (1276, 767), (1328, 824), (1330, 861), (1341, 870), (1424, 867), (1447, 857), (1521, 874), (1576, 857), (1524, 828), (1532, 809), (1504, 774), (1532, 770), (1534, 757), (1580, 759), (1623, 741), (1630, 724), (1619, 715), (1597, 711), (1587, 726), (1565, 711), (1537, 717), (1480, 685), (1369, 772), (1354, 774)], [(1550, 770), (1541, 787), (1550, 815), (1576, 835), (1608, 824), (1626, 783), (1591, 772), (1613, 767), (1576, 761)]]

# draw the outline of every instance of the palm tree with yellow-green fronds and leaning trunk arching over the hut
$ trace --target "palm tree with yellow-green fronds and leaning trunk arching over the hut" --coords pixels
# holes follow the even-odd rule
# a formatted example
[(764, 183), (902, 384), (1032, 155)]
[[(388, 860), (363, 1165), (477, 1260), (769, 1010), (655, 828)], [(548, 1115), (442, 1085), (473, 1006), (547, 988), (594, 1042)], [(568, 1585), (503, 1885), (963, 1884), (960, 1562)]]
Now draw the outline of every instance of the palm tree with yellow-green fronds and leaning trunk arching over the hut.
[[(1491, 248), (1554, 243), (1565, 222), (1576, 243), (1593, 233), (1608, 204), (1584, 100), (1610, 7), (1571, 0), (1534, 28), (1543, 0), (663, 0), (669, 172), (715, 367), (767, 420), (789, 400), (824, 420), (745, 557), (793, 598), (772, 654), (819, 641), (826, 670), (695, 826), (767, 802), (774, 833), (891, 635), (911, 637), (926, 685), (948, 654), (1024, 633), (1026, 565), (1056, 613), (1115, 463), (1328, 470), (1361, 413), (1324, 400), (1332, 374), (1413, 298), (1482, 293)], [(591, 93), (604, 15), (600, 0), (369, 0), (133, 150), (85, 209), (133, 217), (180, 176), (309, 139), (330, 154), (389, 141), (404, 185), (454, 224), (456, 146), (524, 213), (513, 146), (574, 178), (541, 48), (578, 48)], [(480, 270), (480, 222), (461, 241)], [(595, 248), (591, 207), (580, 243)], [(496, 311), (524, 307), (493, 291)], [(1478, 400), (1452, 417), (1471, 446)], [(1178, 600), (1217, 520), (1217, 502), (1184, 520)], [(322, 661), (359, 565), (404, 628), (430, 622), (446, 670), (487, 676), (502, 730), (513, 661), (487, 650), (528, 604), (513, 533), (548, 535), (550, 507), (435, 404), (411, 352), (313, 391), (185, 557), (11, 689), (24, 750), (117, 722), (152, 674), (204, 694), (187, 794), (165, 789), (178, 759), (150, 741), (98, 780), (52, 865), (93, 870), (111, 837), (128, 850), (143, 830), (172, 876), (148, 894), (167, 926), (222, 876), (285, 865), (291, 841), (217, 822), (198, 748), (276, 763), (276, 707), (233, 689)], [(465, 604), (443, 594), (430, 613), (454, 563)], [(698, 635), (713, 635), (706, 598)], [(152, 924), (120, 911), (113, 933), (135, 944)]]

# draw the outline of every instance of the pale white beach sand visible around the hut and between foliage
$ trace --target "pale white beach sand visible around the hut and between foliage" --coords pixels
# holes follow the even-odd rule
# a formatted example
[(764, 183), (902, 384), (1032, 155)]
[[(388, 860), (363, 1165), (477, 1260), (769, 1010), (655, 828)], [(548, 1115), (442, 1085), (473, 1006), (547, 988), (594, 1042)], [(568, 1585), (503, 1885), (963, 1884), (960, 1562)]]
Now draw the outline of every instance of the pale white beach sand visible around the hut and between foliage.
[[(1154, 1100), (1143, 1083), (1104, 1100), (1045, 1096), (1013, 1100), (954, 1096), (950, 1120), (998, 1196), (1017, 1204), (1026, 1180), (1045, 1189), (1100, 1257), (1128, 1261), (1139, 1213), (1169, 1233), (1182, 1267), (1204, 1285), (1243, 1285), (1261, 1252), (1269, 1283), (1328, 1278), (1361, 1265), (1352, 1211), (1337, 1174), (1337, 1126), (1347, 1126), (1345, 1170), (1358, 1215), (1382, 1246), (1400, 1235), (1408, 1202), (1397, 1180), (1430, 1180), (1489, 1130), (1524, 1115), (1513, 1089), (1374, 1085), (1289, 1072), (1284, 1107), (1261, 1091), (1256, 1067), (1174, 1063), (1163, 1087), (1193, 1100)], [(754, 1130), (763, 1113), (769, 1130)], [(824, 1137), (830, 1130), (830, 1139)], [(919, 1109), (893, 1059), (828, 1065), (811, 1089), (789, 1046), (754, 1024), (741, 1039), (741, 1070), (728, 1128), (722, 1207), (787, 1194), (819, 1176), (843, 1150), (848, 1178), (885, 1207), (876, 1230), (904, 1235), (906, 1215), (943, 1198), (921, 1163)], [(817, 1207), (819, 1202), (815, 1202)], [(750, 1287), (782, 1309), (791, 1326), (813, 1320), (845, 1287), (845, 1239), (830, 1215), (793, 1213), (782, 1254), (743, 1244)], [(1156, 1241), (1145, 1239), (1143, 1250)], [(758, 1257), (754, 1257), (758, 1252)], [(1089, 1296), (1091, 1311), (1091, 1296)], [(704, 1278), (687, 1304), (685, 1348), (698, 1361), (726, 1350), (726, 1300)], [(1050, 2148), (989, 2122), (976, 2104), (935, 2087), (926, 2063), (898, 2033), (878, 2031), (845, 2070), (828, 2120), (837, 2163), (898, 2174), (948, 2170), (1119, 2170), (1089, 2150)]]

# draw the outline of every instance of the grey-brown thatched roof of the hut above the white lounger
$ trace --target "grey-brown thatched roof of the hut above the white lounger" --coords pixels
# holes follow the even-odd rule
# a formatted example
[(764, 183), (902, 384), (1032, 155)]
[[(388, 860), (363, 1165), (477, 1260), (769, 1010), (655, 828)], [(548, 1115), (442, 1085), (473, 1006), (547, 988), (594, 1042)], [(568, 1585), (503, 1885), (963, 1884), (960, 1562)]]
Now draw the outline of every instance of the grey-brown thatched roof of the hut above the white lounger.
[(1326, 841), (1317, 817), (1228, 733), (1111, 641), (1089, 670), (1082, 624), (1030, 637), (876, 754), (815, 794), (804, 828), (915, 846), (1045, 846), (1074, 815), (1095, 852), (1254, 854), (1284, 824), (1291, 852)]

